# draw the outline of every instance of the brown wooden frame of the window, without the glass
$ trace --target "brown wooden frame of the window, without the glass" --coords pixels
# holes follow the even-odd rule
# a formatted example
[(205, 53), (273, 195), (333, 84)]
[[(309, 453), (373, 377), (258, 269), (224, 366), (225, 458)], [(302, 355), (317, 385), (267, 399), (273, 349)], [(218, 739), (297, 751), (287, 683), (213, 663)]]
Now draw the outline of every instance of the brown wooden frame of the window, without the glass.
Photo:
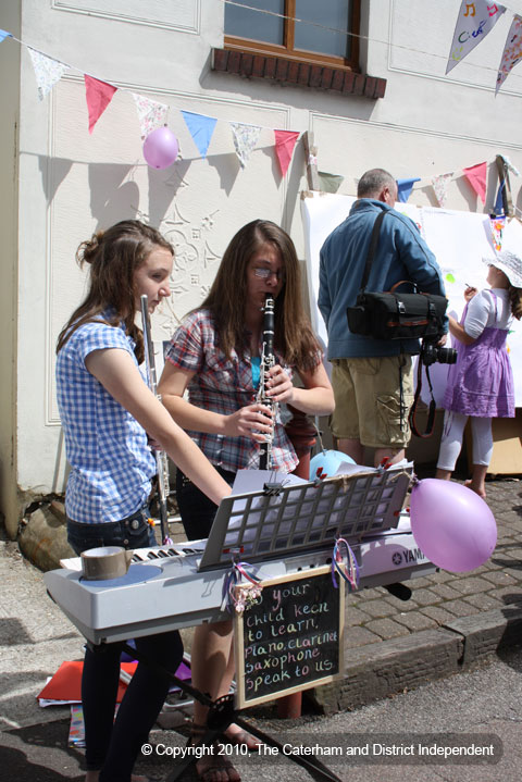
[(326, 65), (344, 71), (360, 72), (359, 66), (359, 33), (361, 27), (361, 0), (352, 0), (350, 30), (357, 34), (351, 39), (350, 58), (334, 57), (333, 54), (322, 54), (314, 51), (306, 51), (303, 49), (295, 49), (295, 22), (296, 17), (296, 0), (285, 0), (285, 15), (289, 18), (284, 20), (284, 44), (268, 44), (251, 38), (237, 38), (226, 35), (224, 37), (224, 48), (231, 51), (249, 51), (253, 54), (265, 54), (270, 57), (281, 57), (286, 60), (296, 62), (306, 62), (315, 65)]

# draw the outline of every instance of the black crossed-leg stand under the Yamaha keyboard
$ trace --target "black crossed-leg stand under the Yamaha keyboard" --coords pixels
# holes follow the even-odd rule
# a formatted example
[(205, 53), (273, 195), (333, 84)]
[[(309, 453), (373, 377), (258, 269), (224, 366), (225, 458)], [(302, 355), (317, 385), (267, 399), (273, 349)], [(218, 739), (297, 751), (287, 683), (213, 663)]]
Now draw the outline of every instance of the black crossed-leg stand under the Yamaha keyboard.
[[(88, 646), (92, 651), (97, 654), (103, 654), (103, 646), (101, 646), (100, 648), (99, 645), (91, 644), (90, 642), (88, 642)], [(128, 644), (122, 642), (121, 648), (122, 651), (125, 651), (127, 655), (130, 655), (139, 662), (142, 662), (144, 665), (150, 666), (151, 668), (161, 671), (161, 673), (167, 675), (184, 693), (190, 695), (196, 700), (199, 700), (199, 703), (203, 706), (209, 707), (209, 715), (207, 718), (208, 730), (202, 736), (202, 738), (195, 744), (195, 746), (210, 747), (216, 738), (223, 738), (224, 743), (226, 743), (226, 736), (224, 736), (224, 732), (226, 731), (228, 725), (235, 723), (248, 733), (251, 733), (252, 736), (256, 736), (256, 738), (259, 738), (264, 744), (277, 748), (281, 755), (287, 757), (288, 760), (293, 760), (298, 766), (301, 766), (303, 769), (306, 769), (312, 777), (312, 779), (318, 780), (319, 782), (323, 782), (323, 780), (325, 780), (326, 782), (343, 782), (336, 774), (333, 773), (333, 771), (331, 771), (326, 766), (324, 766), (324, 764), (322, 764), (313, 756), (301, 756), (293, 755), (291, 753), (283, 753), (283, 745), (279, 744), (278, 741), (273, 738), (264, 731), (261, 731), (254, 725), (250, 724), (243, 717), (240, 717), (240, 712), (237, 711), (234, 706), (233, 694), (225, 695), (222, 698), (217, 698), (217, 700), (211, 700), (199, 690), (192, 687), (191, 684), (188, 684), (187, 682), (178, 679), (174, 673), (171, 673), (165, 668), (158, 666), (158, 663), (148, 660), (144, 655), (141, 655)], [(172, 771), (167, 775), (165, 782), (175, 782), (175, 780), (183, 779), (183, 774), (185, 773), (185, 771), (198, 759), (199, 758), (197, 758), (195, 755), (189, 755), (187, 758), (183, 759), (178, 768), (174, 769), (174, 771)]]

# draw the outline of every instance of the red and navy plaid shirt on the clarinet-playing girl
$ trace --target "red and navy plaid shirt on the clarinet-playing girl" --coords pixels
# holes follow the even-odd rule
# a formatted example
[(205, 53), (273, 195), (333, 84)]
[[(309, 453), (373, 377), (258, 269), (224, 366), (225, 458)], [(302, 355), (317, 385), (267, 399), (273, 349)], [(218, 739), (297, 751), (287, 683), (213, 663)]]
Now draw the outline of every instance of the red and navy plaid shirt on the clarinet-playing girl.
[[(250, 356), (232, 351), (226, 359), (219, 345), (214, 319), (209, 310), (189, 314), (177, 327), (166, 351), (166, 359), (178, 369), (195, 372), (188, 384), (188, 399), (196, 407), (229, 415), (256, 401)], [(291, 376), (291, 371), (276, 353), (276, 362)], [(259, 445), (249, 437), (225, 437), (189, 431), (209, 461), (236, 472), (259, 467)], [(272, 444), (272, 464), (282, 472), (291, 472), (298, 463), (281, 415), (277, 413)]]

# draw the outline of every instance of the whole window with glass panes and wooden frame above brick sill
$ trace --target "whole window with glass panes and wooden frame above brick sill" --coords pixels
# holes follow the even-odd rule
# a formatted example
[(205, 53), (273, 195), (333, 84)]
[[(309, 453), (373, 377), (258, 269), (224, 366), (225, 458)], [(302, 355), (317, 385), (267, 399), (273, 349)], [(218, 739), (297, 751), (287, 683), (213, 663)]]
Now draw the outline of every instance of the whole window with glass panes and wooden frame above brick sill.
[(237, 2), (225, 0), (227, 49), (358, 70), (360, 0)]

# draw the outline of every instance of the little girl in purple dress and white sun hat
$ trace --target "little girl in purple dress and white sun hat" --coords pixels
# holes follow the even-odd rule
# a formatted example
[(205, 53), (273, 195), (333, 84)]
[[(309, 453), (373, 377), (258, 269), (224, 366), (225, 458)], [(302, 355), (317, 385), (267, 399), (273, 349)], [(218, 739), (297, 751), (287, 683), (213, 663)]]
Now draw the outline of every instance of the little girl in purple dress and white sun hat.
[(506, 339), (513, 318), (522, 316), (522, 259), (504, 250), (488, 263), (490, 288), (468, 287), (460, 323), (449, 315), (459, 340), (457, 363), (448, 371), (444, 396), (444, 432), (436, 477), (449, 481), (462, 447), (468, 417), (473, 435), (473, 472), (465, 485), (485, 498), (493, 452), (492, 419), (514, 418), (513, 373)]

